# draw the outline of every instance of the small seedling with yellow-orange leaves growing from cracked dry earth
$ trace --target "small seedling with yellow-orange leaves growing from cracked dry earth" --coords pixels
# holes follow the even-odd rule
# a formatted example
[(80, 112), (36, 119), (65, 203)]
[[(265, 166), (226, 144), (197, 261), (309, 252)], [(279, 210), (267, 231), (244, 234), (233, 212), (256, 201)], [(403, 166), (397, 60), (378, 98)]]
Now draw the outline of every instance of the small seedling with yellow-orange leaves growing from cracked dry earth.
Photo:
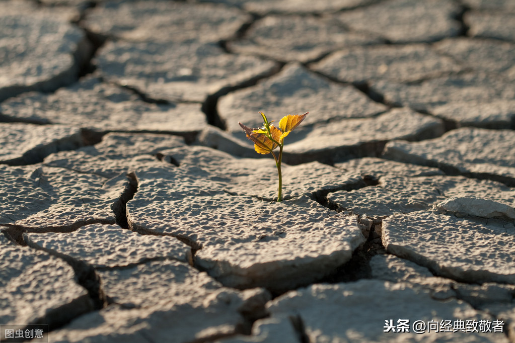
[[(247, 134), (247, 138), (254, 142), (254, 150), (260, 154), (272, 154), (273, 159), (276, 161), (277, 173), (279, 174), (279, 193), (277, 201), (282, 200), (281, 189), (283, 185), (283, 175), (281, 173), (281, 161), (283, 159), (283, 146), (284, 137), (286, 137), (291, 130), (299, 126), (309, 112), (302, 115), (291, 115), (283, 117), (279, 120), (279, 129), (274, 127), (272, 121), (268, 121), (263, 112), (260, 112), (263, 117), (263, 127), (260, 129), (247, 128), (241, 122), (238, 122), (243, 131)], [(273, 150), (279, 147), (279, 155), (273, 153)]]

